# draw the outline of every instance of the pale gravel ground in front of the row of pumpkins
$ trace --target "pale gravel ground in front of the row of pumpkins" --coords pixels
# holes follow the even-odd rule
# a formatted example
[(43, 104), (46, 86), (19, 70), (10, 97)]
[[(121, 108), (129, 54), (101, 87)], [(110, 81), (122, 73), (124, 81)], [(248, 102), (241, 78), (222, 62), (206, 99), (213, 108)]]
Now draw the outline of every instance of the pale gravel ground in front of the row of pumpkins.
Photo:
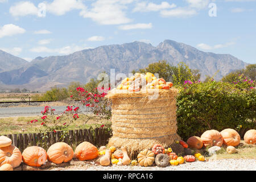
[(221, 159), (208, 162), (192, 162), (179, 166), (141, 167), (141, 166), (71, 166), (67, 168), (52, 168), (53, 171), (255, 171), (256, 159)]

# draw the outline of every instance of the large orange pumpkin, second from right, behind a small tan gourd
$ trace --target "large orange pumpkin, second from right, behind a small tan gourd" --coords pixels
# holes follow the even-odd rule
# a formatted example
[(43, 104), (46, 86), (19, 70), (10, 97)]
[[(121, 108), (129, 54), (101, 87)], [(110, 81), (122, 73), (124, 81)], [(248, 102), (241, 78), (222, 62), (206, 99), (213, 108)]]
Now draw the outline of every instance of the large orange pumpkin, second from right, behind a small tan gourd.
[(234, 129), (225, 129), (221, 131), (223, 143), (227, 146), (238, 146), (240, 144), (240, 135)]

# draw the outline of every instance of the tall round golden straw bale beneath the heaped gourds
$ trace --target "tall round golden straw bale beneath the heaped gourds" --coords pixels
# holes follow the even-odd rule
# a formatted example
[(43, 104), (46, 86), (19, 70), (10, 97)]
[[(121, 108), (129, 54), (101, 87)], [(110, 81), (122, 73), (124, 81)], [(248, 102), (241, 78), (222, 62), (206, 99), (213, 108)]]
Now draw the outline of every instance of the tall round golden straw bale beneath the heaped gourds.
[(111, 90), (113, 137), (109, 146), (125, 146), (130, 155), (159, 143), (170, 146), (176, 134), (177, 90), (151, 89), (140, 92)]

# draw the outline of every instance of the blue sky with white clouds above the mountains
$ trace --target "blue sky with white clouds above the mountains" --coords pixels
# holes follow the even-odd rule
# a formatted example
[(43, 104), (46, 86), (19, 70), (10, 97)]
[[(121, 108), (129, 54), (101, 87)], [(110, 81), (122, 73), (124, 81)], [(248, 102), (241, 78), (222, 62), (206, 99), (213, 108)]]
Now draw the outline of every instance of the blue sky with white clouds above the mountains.
[(28, 61), (166, 39), (255, 64), (256, 1), (0, 0), (0, 49)]

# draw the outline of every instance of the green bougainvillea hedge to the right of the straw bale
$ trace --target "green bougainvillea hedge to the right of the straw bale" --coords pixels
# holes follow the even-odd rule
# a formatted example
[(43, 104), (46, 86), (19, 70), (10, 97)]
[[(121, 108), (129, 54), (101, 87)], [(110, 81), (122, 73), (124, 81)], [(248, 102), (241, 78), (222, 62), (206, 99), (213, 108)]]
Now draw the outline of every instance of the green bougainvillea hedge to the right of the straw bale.
[(255, 81), (241, 75), (236, 82), (187, 80), (177, 87), (177, 133), (183, 139), (209, 129), (255, 128)]

